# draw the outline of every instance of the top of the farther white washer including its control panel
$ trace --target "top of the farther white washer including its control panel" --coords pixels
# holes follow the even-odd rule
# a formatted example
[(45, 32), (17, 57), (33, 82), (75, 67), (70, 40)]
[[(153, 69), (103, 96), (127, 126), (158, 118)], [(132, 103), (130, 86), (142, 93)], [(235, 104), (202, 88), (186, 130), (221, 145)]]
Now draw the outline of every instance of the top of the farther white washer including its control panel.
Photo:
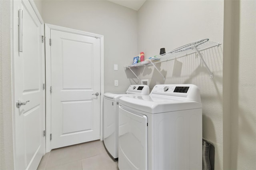
[(119, 99), (122, 96), (127, 95), (149, 95), (148, 85), (130, 85), (126, 92), (110, 92), (104, 93), (104, 97), (111, 99)]

